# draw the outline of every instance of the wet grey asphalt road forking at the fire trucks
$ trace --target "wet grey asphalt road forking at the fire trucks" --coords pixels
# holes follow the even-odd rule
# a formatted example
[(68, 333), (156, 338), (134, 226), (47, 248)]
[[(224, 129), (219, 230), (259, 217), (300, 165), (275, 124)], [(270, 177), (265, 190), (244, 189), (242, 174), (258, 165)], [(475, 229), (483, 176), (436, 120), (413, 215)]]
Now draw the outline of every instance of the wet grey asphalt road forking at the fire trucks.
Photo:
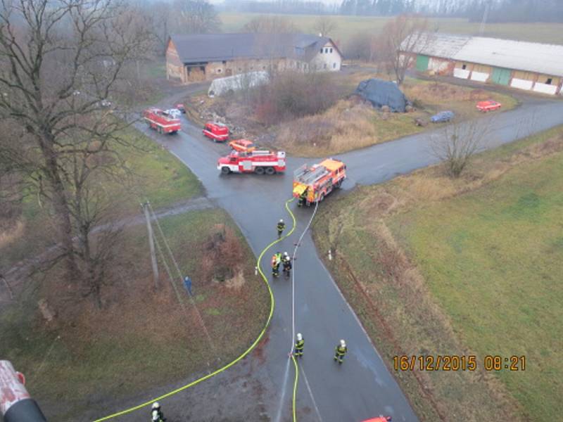
[[(515, 110), (484, 117), (481, 124), (490, 125), (486, 148), (494, 148), (563, 124), (563, 102), (532, 100)], [(467, 125), (462, 126), (461, 130), (465, 129)], [(291, 197), (293, 170), (306, 162), (305, 159), (288, 158), (284, 175), (224, 176), (217, 171), (216, 162), (220, 155), (228, 153), (228, 147), (203, 138), (200, 128), (184, 121), (183, 131), (177, 135), (158, 135), (145, 130), (201, 179), (208, 198), (232, 215), (256, 255), (272, 241), (276, 235), (277, 220), (284, 218), (287, 221), (284, 202)], [(441, 131), (434, 131), (407, 136), (339, 155), (338, 158), (346, 162), (348, 167), (348, 180), (343, 190), (353, 188), (355, 184), (379, 183), (433, 164), (436, 158), (431, 153), (431, 136), (442, 134)], [(331, 196), (342, 194), (336, 192)], [(331, 196), (327, 200), (331, 200)], [(295, 234), (276, 248), (280, 252), (287, 250), (291, 253), (293, 242), (303, 231), (312, 212), (310, 209), (298, 209), (295, 203), (291, 206), (298, 226)], [(270, 256), (267, 254), (262, 262), (265, 269), (269, 269)], [(310, 234), (303, 238), (294, 269), (296, 331), (303, 333), (305, 338), (305, 356), (300, 362), (298, 418), (301, 421), (352, 422), (386, 414), (393, 416), (393, 421), (417, 421), (403, 392), (377, 353), (377, 345), (372, 345), (324, 268)], [(291, 284), (283, 278), (276, 279), (272, 281), (272, 288), (276, 309), (269, 338), (261, 346), (259, 367), (249, 370), (247, 376), (262, 378), (262, 388), (267, 389), (267, 395), (260, 397), (262, 416), (277, 422), (289, 420), (291, 416), (293, 367), (289, 365), (288, 357), (293, 340)], [(348, 343), (348, 354), (346, 362), (338, 366), (333, 362), (332, 355), (341, 338)], [(257, 358), (253, 354), (253, 357), (245, 360), (248, 359)], [(248, 362), (242, 365), (248, 366)], [(224, 373), (221, 378), (228, 376), (228, 373)], [(213, 380), (205, 382), (213, 383)], [(190, 390), (182, 394), (184, 396), (179, 399), (190, 402)], [(221, 397), (215, 399), (220, 400)], [(210, 403), (209, 406), (213, 408), (215, 404)], [(195, 420), (198, 420), (197, 416)], [(248, 416), (248, 420), (255, 418)]]

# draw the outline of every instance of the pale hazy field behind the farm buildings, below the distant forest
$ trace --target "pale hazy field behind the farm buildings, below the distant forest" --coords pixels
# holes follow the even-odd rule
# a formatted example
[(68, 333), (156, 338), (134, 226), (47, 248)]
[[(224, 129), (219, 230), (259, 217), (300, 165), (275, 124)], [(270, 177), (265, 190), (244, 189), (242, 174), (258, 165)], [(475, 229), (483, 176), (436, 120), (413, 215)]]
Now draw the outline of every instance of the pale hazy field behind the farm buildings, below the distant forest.
[[(221, 13), (222, 30), (224, 32), (239, 32), (241, 27), (258, 13)], [(280, 15), (288, 18), (299, 30), (314, 33), (314, 15)], [(336, 42), (346, 44), (354, 34), (367, 32), (379, 34), (390, 18), (334, 16), (338, 27), (334, 34), (329, 34)], [(436, 18), (429, 21), (431, 30), (449, 32), (452, 34), (479, 34), (480, 23), (469, 23), (464, 19)], [(563, 44), (563, 24), (561, 23), (497, 23), (488, 24), (483, 33), (484, 37), (498, 37), (517, 39), (519, 41), (544, 42)], [(345, 52), (346, 53), (346, 52)]]

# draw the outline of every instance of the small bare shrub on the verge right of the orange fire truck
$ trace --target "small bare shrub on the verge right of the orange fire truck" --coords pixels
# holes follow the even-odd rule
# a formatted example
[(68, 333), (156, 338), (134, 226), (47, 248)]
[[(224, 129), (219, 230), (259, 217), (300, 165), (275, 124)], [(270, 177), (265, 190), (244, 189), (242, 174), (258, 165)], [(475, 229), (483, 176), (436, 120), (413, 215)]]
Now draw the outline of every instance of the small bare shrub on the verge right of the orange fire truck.
[(431, 136), (431, 149), (444, 162), (450, 177), (460, 177), (473, 155), (483, 148), (489, 132), (490, 122), (482, 120), (448, 124)]

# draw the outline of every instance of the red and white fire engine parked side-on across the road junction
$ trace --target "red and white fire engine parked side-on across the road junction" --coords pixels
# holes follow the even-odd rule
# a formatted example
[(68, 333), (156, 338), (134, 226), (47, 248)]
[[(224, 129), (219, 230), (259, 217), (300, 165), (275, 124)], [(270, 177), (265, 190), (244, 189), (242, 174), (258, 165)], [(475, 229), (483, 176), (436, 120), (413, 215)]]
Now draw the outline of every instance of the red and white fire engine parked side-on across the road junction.
[(286, 170), (286, 153), (284, 151), (251, 152), (233, 151), (227, 157), (217, 161), (217, 170), (222, 174), (256, 173), (275, 174)]

